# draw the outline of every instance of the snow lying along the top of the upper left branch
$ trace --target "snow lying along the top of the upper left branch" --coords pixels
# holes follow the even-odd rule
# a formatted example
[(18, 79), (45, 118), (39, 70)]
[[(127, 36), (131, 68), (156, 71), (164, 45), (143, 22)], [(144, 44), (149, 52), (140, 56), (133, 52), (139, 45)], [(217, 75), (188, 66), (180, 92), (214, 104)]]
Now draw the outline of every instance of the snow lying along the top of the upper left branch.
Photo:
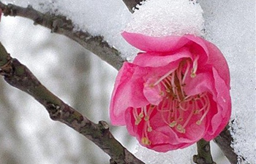
[(132, 58), (138, 52), (120, 36), (132, 18), (123, 1), (117, 0), (6, 0), (7, 4), (21, 7), (31, 5), (40, 12), (64, 15), (72, 20), (75, 30), (88, 31), (93, 36), (104, 36), (111, 46), (116, 47), (123, 57)]

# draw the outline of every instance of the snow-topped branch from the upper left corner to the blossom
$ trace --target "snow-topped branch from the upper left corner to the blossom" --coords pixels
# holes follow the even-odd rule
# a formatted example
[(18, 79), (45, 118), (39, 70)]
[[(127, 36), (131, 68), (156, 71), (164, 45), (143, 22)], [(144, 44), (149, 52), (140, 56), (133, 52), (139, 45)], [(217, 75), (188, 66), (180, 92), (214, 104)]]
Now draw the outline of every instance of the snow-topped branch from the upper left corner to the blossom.
[(125, 58), (121, 58), (118, 50), (111, 47), (108, 42), (105, 42), (103, 36), (92, 36), (86, 31), (75, 31), (72, 25), (72, 20), (67, 20), (67, 17), (50, 13), (42, 14), (31, 6), (26, 8), (18, 7), (14, 4), (3, 4), (1, 1), (0, 8), (5, 16), (29, 18), (34, 21), (34, 25), (39, 24), (45, 26), (46, 28), (50, 28), (53, 33), (63, 34), (70, 39), (75, 40), (116, 69), (120, 69), (126, 60)]

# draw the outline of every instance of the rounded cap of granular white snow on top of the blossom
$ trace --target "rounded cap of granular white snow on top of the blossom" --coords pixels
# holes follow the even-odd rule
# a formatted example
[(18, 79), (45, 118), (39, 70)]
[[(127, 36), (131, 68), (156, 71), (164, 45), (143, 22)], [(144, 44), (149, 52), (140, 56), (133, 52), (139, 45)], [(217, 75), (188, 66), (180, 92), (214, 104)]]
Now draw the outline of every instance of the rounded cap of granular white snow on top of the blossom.
[(138, 7), (125, 31), (147, 36), (203, 35), (203, 9), (195, 0), (148, 0)]

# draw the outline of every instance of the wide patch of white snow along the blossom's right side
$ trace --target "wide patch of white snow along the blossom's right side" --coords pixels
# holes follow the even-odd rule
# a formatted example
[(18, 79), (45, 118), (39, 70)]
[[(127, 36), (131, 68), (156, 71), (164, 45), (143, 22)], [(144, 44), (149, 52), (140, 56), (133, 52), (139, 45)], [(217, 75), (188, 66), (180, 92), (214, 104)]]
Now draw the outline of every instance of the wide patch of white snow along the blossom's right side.
[(230, 66), (233, 147), (255, 164), (255, 0), (201, 0), (200, 4), (206, 39), (222, 50)]

